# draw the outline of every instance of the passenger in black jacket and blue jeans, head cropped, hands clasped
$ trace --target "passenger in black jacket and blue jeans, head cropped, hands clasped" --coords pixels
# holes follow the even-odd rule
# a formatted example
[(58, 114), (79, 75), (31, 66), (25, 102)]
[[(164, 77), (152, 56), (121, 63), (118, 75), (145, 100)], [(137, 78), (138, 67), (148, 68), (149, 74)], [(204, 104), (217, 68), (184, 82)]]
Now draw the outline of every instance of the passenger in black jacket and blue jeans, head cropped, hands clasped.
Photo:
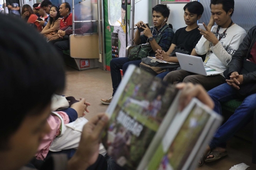
[[(224, 72), (227, 83), (208, 93), (215, 103), (214, 110), (221, 114), (221, 102), (243, 100), (234, 114), (221, 126), (205, 152), (206, 162), (225, 156), (226, 142), (253, 118), (256, 110), (256, 26), (251, 28)], [(211, 152), (210, 152), (211, 151)], [(210, 152), (208, 155), (206, 153)], [(204, 160), (202, 160), (204, 161)], [(201, 162), (202, 163), (202, 162)]]

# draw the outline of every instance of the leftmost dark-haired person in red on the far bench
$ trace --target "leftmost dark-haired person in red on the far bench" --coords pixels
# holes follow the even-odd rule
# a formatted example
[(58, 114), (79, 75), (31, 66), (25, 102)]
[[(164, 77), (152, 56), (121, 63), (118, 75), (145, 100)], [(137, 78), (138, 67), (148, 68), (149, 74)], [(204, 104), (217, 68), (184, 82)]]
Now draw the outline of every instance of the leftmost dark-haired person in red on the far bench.
[(34, 14), (33, 9), (29, 5), (23, 5), (21, 16), (28, 24), (30, 24), (30, 26), (36, 27), (40, 32), (42, 31), (42, 26), (40, 26), (40, 24), (36, 21), (37, 15)]

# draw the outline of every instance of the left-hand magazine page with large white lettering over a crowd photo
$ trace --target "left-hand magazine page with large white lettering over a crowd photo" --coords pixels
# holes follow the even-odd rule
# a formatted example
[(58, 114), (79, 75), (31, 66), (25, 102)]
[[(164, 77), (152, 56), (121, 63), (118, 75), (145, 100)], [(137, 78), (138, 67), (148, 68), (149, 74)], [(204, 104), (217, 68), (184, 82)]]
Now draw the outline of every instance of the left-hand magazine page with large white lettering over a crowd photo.
[(135, 170), (177, 90), (135, 66), (129, 66), (127, 73), (106, 111), (110, 123), (105, 145), (121, 167)]

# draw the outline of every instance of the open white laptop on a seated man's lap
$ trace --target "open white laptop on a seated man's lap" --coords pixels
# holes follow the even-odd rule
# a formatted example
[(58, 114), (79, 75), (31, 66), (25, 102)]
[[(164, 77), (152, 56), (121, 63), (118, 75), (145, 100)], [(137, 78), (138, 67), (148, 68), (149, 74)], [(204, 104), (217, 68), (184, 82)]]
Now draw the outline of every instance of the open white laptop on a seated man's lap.
[(201, 57), (182, 54), (176, 52), (177, 59), (179, 60), (181, 69), (192, 73), (200, 74), (203, 76), (213, 76), (221, 74), (221, 72), (215, 69), (205, 67)]

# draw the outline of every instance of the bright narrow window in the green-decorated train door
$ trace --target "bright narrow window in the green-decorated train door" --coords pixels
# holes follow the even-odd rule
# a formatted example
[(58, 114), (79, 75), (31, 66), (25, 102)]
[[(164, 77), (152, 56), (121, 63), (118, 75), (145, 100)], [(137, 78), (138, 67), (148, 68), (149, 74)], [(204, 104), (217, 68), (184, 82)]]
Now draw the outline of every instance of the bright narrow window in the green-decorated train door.
[(111, 26), (114, 26), (121, 17), (121, 5), (121, 0), (109, 0), (109, 23)]

